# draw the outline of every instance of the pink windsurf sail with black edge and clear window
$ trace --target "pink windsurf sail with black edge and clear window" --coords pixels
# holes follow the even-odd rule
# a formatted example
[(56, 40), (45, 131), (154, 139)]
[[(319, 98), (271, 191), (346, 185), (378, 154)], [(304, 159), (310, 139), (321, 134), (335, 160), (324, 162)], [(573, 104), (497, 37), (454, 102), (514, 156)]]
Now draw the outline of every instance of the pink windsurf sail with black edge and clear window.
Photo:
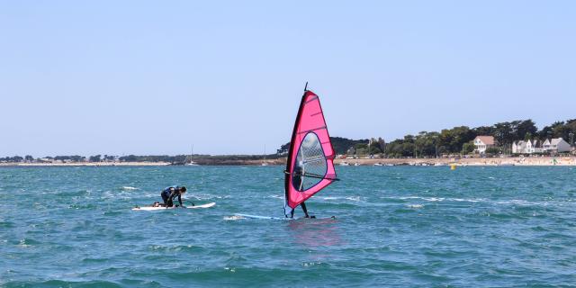
[[(306, 90), (302, 95), (288, 150), (284, 178), (285, 204), (296, 208), (338, 180), (334, 157), (320, 98)], [(284, 206), (284, 213), (288, 215), (289, 212), (290, 209)]]

